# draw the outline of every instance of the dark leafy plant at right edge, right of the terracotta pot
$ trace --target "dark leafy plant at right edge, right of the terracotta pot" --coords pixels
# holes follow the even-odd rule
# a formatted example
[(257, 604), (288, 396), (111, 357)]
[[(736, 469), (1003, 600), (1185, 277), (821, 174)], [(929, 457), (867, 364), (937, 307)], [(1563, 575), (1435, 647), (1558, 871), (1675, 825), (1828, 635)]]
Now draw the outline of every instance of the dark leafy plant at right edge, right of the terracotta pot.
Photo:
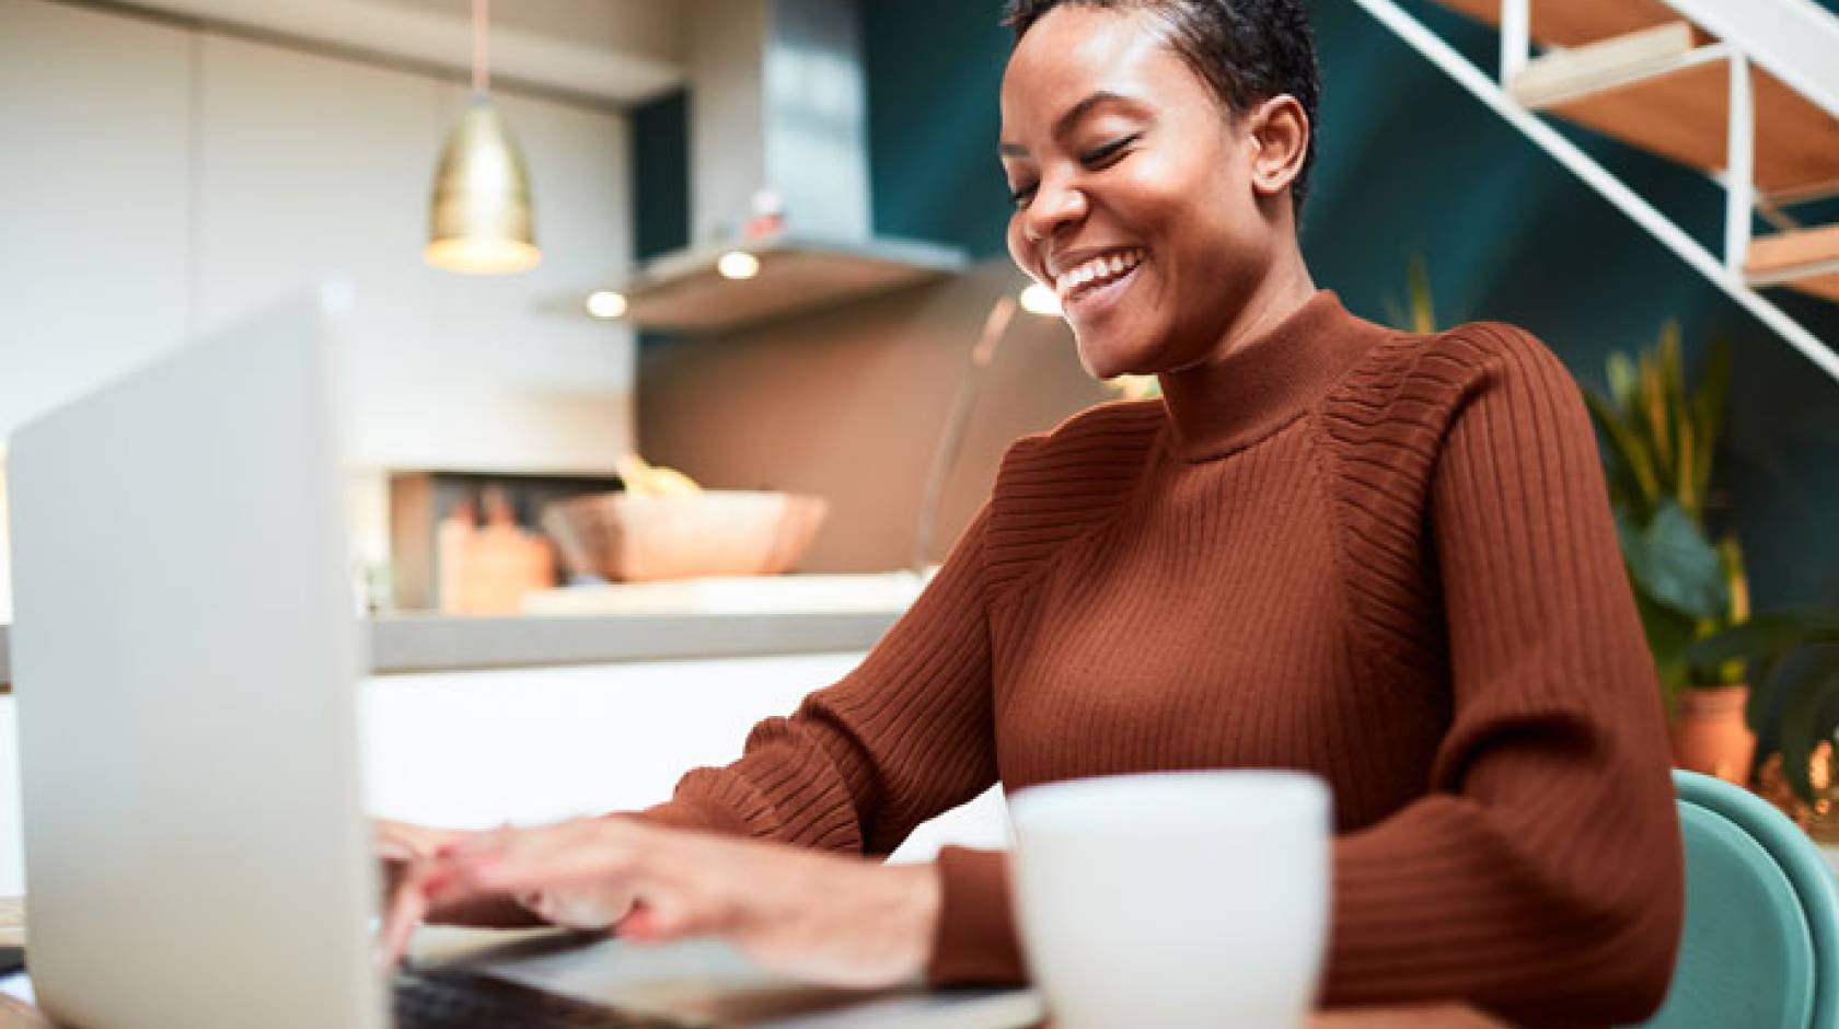
[(1764, 612), (1694, 643), (1686, 656), (1707, 671), (1747, 665), (1754, 689), (1745, 717), (1767, 755), (1756, 790), (1815, 838), (1839, 842), (1839, 610)]

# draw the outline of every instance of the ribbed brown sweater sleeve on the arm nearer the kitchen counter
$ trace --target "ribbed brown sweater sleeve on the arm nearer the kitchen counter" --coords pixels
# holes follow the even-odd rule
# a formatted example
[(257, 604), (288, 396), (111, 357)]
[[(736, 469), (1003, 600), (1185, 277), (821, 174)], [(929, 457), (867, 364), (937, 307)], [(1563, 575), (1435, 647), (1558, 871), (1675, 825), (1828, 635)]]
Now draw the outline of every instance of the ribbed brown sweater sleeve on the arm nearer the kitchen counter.
[(984, 616), (988, 507), (850, 674), (684, 775), (653, 821), (885, 854), (997, 781)]

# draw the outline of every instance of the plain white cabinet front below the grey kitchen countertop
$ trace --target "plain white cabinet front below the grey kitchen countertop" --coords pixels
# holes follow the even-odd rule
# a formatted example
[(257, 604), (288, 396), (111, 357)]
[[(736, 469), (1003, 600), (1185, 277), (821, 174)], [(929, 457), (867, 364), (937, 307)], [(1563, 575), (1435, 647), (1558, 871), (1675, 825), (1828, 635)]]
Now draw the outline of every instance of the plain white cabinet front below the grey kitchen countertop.
[[(469, 829), (647, 807), (690, 768), (734, 761), (754, 722), (791, 713), (857, 662), (800, 654), (371, 678), (360, 695), (368, 803)], [(921, 827), (899, 856), (1006, 840), (991, 792)]]

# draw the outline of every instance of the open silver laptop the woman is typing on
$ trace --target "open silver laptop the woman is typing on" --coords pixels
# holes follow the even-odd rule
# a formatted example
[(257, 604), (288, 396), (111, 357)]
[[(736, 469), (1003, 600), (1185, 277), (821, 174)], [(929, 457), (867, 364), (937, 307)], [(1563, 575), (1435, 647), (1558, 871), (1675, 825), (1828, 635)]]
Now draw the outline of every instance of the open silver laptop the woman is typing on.
[[(188, 345), (11, 441), (28, 959), (63, 1022), (390, 1025), (335, 441), (342, 303), (327, 290)], [(441, 948), (443, 970), (691, 1025), (1041, 1018), (1021, 990), (809, 990), (706, 941), (449, 932)]]

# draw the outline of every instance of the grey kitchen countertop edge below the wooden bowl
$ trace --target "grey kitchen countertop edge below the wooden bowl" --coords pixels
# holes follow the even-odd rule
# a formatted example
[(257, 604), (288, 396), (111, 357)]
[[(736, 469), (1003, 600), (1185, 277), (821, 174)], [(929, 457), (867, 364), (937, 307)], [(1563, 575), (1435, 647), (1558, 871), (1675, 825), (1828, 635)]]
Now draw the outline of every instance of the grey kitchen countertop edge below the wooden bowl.
[[(368, 619), (373, 674), (868, 650), (899, 610)], [(11, 684), (0, 625), (0, 684)], [(0, 691), (7, 687), (0, 685)]]

